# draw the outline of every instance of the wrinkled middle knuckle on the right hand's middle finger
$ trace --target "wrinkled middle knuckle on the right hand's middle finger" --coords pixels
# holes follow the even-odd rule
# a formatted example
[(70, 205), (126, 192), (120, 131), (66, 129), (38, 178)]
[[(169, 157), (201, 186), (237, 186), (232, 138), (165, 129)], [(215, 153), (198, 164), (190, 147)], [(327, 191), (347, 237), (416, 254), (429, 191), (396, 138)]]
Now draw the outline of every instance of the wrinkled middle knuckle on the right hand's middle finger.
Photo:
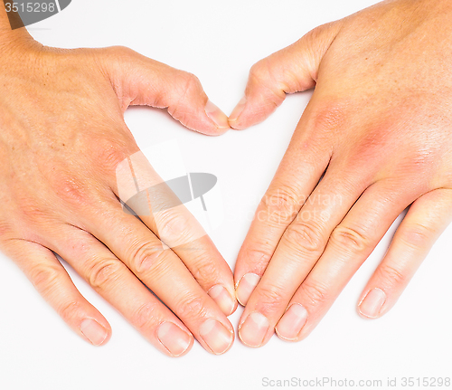
[(284, 240), (289, 247), (301, 253), (310, 252), (320, 255), (325, 246), (320, 227), (313, 223), (297, 222), (290, 224), (284, 233)]

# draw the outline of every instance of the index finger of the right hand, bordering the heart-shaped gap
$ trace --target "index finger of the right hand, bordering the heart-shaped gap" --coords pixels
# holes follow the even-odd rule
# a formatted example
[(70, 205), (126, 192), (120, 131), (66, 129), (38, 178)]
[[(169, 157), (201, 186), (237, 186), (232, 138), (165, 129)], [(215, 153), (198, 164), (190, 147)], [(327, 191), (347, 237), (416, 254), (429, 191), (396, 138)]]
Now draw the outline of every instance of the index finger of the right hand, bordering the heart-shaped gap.
[(287, 226), (306, 203), (330, 161), (327, 141), (316, 137), (318, 120), (309, 115), (310, 105), (297, 125), (240, 248), (234, 279), (241, 305), (247, 304)]

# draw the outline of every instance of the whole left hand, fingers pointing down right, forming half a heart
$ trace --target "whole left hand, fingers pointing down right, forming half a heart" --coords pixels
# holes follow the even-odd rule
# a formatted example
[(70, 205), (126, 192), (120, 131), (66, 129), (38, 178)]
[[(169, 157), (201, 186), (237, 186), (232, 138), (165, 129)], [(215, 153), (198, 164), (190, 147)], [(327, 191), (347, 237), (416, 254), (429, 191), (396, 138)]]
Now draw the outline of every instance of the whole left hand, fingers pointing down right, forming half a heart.
[(94, 345), (111, 329), (55, 253), (165, 354), (183, 355), (193, 337), (225, 352), (236, 307), (231, 269), (184, 205), (165, 207), (174, 200), (166, 185), (148, 192), (159, 212), (139, 220), (123, 211), (118, 183), (127, 192), (127, 178), (133, 188), (162, 182), (127, 129), (129, 105), (167, 108), (209, 135), (229, 128), (227, 117), (192, 74), (127, 48), (60, 50), (17, 35), (1, 44), (2, 250)]

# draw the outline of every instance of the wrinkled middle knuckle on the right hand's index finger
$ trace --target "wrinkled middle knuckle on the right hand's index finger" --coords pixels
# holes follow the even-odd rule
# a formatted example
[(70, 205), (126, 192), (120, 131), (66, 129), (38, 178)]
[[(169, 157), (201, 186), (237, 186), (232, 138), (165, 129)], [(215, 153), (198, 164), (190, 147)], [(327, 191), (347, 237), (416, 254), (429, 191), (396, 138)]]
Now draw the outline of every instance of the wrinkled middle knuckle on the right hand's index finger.
[[(261, 207), (265, 211), (268, 221), (277, 224), (290, 224), (297, 216), (300, 204), (295, 190), (287, 186), (280, 186), (275, 192), (263, 196)], [(259, 220), (262, 215), (258, 213), (257, 217)]]

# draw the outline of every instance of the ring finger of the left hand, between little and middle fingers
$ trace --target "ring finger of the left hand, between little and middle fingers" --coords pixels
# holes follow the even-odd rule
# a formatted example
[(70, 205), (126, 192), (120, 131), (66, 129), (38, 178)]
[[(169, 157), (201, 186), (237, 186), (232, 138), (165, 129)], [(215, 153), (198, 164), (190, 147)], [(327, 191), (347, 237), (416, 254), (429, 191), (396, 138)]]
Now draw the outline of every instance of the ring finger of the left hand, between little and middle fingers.
[(56, 241), (54, 251), (148, 341), (171, 357), (180, 357), (190, 350), (190, 331), (105, 245), (75, 227), (69, 227), (64, 235), (64, 244)]

